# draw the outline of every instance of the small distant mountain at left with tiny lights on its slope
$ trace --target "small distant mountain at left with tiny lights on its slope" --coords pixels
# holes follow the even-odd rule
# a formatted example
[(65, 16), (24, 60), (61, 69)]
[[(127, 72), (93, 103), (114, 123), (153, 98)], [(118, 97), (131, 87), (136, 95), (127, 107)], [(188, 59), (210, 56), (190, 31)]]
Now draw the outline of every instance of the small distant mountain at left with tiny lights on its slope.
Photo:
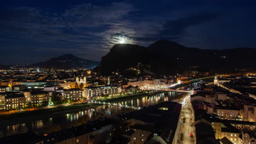
[(71, 69), (71, 68), (94, 68), (97, 65), (100, 65), (100, 62), (75, 57), (74, 55), (71, 55), (71, 54), (66, 54), (59, 57), (51, 58), (46, 62), (39, 62), (39, 63), (28, 65), (28, 67)]

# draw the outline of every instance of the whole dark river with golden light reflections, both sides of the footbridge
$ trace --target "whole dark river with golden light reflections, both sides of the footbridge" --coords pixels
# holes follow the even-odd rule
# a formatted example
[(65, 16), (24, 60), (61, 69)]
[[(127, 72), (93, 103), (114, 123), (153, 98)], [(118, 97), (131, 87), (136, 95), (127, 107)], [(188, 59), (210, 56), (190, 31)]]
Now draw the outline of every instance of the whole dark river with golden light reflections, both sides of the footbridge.
[[(181, 89), (193, 88), (196, 85), (197, 83), (191, 83), (189, 86), (182, 87)], [(119, 104), (143, 107), (158, 104), (162, 101), (178, 100), (184, 95), (185, 93), (165, 92), (148, 95), (143, 98), (123, 101)], [(34, 133), (42, 135), (45, 133), (50, 133), (52, 131), (59, 131), (65, 128), (76, 127), (78, 125), (87, 123), (88, 121), (93, 121), (101, 117), (112, 117), (114, 115), (117, 115), (118, 113), (130, 111), (133, 111), (133, 109), (127, 109), (120, 106), (103, 105), (89, 110), (59, 114), (54, 117), (40, 119), (39, 121), (9, 125), (8, 127), (0, 126), (0, 137), (26, 133), (27, 131), (33, 131)]]

